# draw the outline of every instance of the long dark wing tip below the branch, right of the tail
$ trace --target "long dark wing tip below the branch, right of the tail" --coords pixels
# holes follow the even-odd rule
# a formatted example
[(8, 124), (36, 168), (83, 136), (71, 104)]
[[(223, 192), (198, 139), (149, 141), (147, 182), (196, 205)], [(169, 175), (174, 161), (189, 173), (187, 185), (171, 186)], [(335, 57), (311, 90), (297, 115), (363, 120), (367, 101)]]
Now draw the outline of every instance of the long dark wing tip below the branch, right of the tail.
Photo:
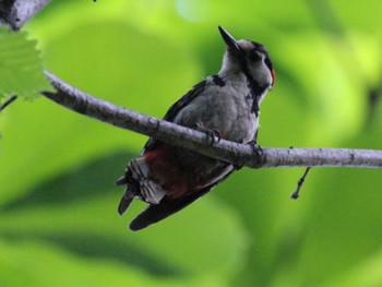
[(155, 224), (162, 219), (165, 219), (171, 214), (179, 212), (180, 210), (184, 208), (187, 205), (198, 200), (200, 196), (206, 194), (210, 190), (212, 190), (220, 181), (225, 180), (234, 171), (235, 171), (235, 167), (232, 167), (232, 169), (228, 174), (226, 174), (224, 177), (222, 177), (217, 181), (211, 183), (210, 186), (196, 192), (189, 193), (178, 199), (171, 199), (171, 198), (165, 196), (158, 204), (150, 204), (145, 211), (143, 211), (140, 215), (138, 215), (131, 222), (130, 229), (133, 231), (143, 229), (148, 225)]

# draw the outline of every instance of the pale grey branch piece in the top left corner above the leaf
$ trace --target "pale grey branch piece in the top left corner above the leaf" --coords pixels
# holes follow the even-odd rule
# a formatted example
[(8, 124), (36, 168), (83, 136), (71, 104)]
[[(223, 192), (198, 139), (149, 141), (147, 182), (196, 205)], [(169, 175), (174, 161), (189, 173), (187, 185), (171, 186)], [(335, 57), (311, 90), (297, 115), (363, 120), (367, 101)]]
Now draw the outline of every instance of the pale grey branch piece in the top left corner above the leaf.
[(13, 31), (20, 29), (50, 0), (0, 0), (0, 25), (8, 23)]

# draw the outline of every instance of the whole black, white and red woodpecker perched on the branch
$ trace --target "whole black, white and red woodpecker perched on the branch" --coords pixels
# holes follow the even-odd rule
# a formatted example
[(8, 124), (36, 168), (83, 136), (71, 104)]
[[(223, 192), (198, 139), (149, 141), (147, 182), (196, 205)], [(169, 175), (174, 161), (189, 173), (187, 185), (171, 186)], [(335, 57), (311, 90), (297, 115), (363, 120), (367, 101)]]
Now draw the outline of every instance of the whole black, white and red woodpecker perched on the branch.
[[(218, 139), (256, 143), (259, 106), (275, 83), (271, 58), (263, 45), (236, 40), (218, 26), (226, 44), (220, 71), (193, 86), (175, 103), (164, 120)], [(231, 172), (232, 164), (210, 158), (151, 137), (117, 184), (127, 184), (118, 206), (122, 215), (134, 198), (148, 206), (131, 224), (140, 230), (182, 210)]]

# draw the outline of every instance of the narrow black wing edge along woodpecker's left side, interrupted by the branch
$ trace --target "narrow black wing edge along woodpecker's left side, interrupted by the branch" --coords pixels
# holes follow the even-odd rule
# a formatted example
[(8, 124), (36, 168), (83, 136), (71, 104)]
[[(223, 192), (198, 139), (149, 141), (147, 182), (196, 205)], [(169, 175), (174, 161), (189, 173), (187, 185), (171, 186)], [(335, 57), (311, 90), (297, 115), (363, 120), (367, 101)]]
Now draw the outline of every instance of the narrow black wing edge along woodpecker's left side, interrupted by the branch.
[[(200, 93), (204, 89), (206, 83), (206, 80), (204, 80), (199, 84), (194, 85), (190, 92), (188, 92), (169, 108), (169, 110), (166, 112), (163, 119), (172, 122), (175, 117), (177, 117), (178, 112), (187, 105), (189, 105), (198, 95), (200, 95)], [(154, 150), (159, 142), (160, 141), (156, 140), (155, 137), (150, 137), (146, 144), (144, 145), (141, 155)]]

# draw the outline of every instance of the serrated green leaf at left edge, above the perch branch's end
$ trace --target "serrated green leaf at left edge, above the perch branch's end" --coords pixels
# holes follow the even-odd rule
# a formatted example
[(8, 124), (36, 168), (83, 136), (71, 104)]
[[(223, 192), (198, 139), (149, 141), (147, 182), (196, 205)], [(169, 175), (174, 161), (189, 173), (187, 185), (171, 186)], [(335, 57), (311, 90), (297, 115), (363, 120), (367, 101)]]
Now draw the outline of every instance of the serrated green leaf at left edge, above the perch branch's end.
[(0, 28), (0, 99), (11, 95), (32, 98), (41, 89), (50, 89), (37, 41), (26, 37), (25, 32)]

